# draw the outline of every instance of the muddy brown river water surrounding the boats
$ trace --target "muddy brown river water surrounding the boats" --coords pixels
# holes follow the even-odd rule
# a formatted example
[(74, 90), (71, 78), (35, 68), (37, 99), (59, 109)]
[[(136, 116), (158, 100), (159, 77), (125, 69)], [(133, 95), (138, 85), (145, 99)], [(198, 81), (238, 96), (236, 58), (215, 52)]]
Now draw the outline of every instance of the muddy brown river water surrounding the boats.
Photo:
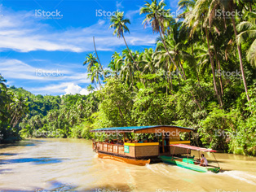
[(0, 191), (256, 191), (255, 157), (215, 156), (218, 174), (99, 159), (83, 139), (29, 139), (0, 146)]

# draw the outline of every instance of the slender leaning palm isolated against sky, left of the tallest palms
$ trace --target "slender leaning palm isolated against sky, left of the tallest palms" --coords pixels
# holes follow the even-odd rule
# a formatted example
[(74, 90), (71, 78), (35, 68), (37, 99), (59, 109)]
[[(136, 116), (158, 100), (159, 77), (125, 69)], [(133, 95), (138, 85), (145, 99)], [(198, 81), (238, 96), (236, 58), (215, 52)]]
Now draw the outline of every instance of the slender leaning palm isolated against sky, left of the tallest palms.
[[(130, 33), (129, 28), (126, 26), (126, 24), (130, 24), (130, 20), (124, 18), (124, 12), (116, 11), (115, 15), (111, 16), (110, 22), (111, 22), (111, 25), (109, 26), (109, 28), (115, 29), (113, 32), (113, 35), (117, 34), (118, 38), (122, 37), (126, 43), (126, 38), (124, 36), (124, 33), (126, 33), (126, 32)], [(133, 55), (131, 54), (127, 43), (126, 43), (126, 47), (130, 53), (131, 59), (135, 63), (135, 59), (133, 58)]]

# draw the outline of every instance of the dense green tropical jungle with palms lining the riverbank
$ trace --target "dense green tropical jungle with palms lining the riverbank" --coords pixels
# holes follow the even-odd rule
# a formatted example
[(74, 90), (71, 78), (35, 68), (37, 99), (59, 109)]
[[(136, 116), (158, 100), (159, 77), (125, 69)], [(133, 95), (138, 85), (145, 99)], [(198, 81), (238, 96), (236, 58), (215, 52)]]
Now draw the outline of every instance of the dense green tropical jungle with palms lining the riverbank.
[(35, 96), (1, 77), (1, 131), (91, 138), (90, 129), (176, 124), (195, 129), (193, 145), (256, 155), (255, 1), (180, 0), (179, 10), (144, 4), (142, 23), (159, 37), (143, 51), (129, 48), (132, 24), (117, 11), (110, 28), (126, 49), (104, 70), (86, 56), (89, 95)]

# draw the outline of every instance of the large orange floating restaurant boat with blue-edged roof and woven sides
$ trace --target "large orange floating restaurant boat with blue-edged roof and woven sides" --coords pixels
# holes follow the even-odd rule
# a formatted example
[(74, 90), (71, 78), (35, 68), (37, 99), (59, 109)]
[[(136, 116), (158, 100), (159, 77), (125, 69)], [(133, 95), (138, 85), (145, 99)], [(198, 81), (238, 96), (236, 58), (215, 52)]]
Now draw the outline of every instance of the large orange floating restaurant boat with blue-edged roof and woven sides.
[[(98, 153), (99, 158), (115, 159), (129, 164), (145, 165), (152, 160), (158, 159), (160, 155), (170, 155), (168, 144), (185, 143), (180, 141), (179, 133), (191, 132), (193, 129), (171, 125), (139, 126), (139, 127), (117, 127), (90, 130), (92, 133), (121, 134), (123, 144), (112, 144), (108, 142), (93, 141), (93, 150)], [(126, 142), (126, 133), (154, 133), (157, 142)], [(161, 142), (159, 139), (161, 138)], [(165, 145), (166, 144), (166, 145)], [(179, 152), (186, 152), (181, 150)]]

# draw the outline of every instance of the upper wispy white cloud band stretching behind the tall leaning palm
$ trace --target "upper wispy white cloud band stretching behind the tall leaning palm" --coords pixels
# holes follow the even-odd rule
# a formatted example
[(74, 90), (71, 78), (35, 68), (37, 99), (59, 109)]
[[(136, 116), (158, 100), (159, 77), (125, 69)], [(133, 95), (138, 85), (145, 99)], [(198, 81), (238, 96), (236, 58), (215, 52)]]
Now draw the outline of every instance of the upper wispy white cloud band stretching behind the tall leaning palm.
[[(117, 2), (121, 7), (121, 3)], [(5, 9), (3, 9), (5, 10)], [(138, 11), (128, 11), (132, 16)], [(109, 22), (100, 18), (96, 24), (86, 28), (63, 28), (58, 31), (49, 24), (42, 24), (34, 16), (33, 11), (3, 11), (0, 23), (0, 50), (15, 50), (29, 52), (33, 50), (72, 51), (83, 52), (94, 50), (92, 37), (95, 36), (98, 50), (114, 50), (117, 46), (124, 46), (124, 42), (113, 37), (113, 29), (109, 29)], [(133, 24), (130, 35), (126, 35), (128, 44), (136, 46), (152, 46), (155, 37), (143, 31), (142, 21)], [(56, 24), (58, 20), (55, 20)], [(139, 26), (138, 32), (132, 33)]]

